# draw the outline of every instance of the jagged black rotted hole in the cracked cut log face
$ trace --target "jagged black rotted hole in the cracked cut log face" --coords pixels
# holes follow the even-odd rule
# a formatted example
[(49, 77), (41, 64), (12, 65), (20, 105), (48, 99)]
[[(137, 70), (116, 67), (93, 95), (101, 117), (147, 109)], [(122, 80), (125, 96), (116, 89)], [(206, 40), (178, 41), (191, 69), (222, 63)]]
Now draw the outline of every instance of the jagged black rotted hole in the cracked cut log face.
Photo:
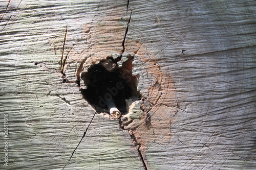
[(132, 96), (132, 89), (119, 69), (106, 70), (102, 65), (93, 65), (86, 75), (87, 89), (81, 93), (96, 110), (108, 109), (107, 103), (114, 102), (121, 112), (126, 112), (125, 99)]

